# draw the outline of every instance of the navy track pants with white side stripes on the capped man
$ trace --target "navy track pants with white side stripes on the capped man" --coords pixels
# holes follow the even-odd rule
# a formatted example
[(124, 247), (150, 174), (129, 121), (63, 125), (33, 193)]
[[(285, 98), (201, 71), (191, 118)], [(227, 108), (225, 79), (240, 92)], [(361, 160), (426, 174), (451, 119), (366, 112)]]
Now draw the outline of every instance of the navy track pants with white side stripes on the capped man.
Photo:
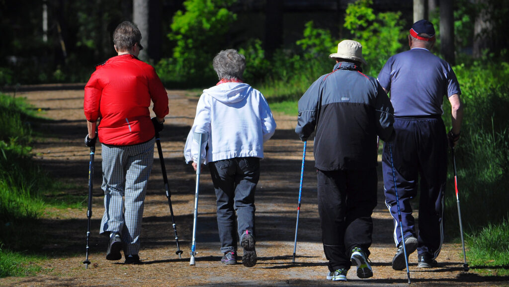
[[(395, 118), (395, 139), (390, 142), (395, 180), (402, 215), (404, 237), (415, 236), (411, 200), (419, 193), (417, 253), (428, 253), (435, 259), (443, 242), (443, 193), (447, 177), (447, 136), (441, 118)], [(401, 231), (394, 191), (389, 146), (384, 143), (382, 155), (385, 204), (394, 218), (394, 242)], [(419, 182), (420, 180), (420, 182)]]

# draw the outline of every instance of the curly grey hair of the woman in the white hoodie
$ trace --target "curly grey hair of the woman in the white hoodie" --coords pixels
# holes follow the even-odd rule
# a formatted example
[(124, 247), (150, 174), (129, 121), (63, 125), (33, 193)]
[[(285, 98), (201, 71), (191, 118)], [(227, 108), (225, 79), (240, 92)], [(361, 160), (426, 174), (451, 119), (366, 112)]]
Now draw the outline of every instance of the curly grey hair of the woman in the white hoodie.
[(222, 50), (214, 57), (212, 66), (219, 79), (242, 80), (246, 69), (246, 58), (235, 49)]

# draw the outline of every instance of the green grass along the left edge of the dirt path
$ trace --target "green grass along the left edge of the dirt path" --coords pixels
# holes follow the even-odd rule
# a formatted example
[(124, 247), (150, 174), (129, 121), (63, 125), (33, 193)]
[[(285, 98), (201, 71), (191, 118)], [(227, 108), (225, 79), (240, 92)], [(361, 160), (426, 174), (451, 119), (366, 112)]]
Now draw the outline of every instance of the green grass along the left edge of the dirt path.
[(40, 122), (36, 110), (0, 94), (0, 277), (40, 272), (40, 247), (47, 241), (34, 236), (40, 216), (49, 207), (82, 208), (87, 202), (87, 194), (68, 192), (77, 185), (59, 183), (34, 164), (30, 144), (37, 132), (28, 123)]

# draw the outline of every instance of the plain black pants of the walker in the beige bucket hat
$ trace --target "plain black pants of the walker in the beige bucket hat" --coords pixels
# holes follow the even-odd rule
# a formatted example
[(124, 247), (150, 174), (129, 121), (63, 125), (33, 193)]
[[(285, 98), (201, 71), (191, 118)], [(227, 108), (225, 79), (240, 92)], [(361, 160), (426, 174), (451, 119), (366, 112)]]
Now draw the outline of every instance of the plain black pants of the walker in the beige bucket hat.
[(359, 246), (369, 255), (371, 214), (377, 205), (377, 172), (318, 170), (318, 211), (329, 271), (350, 269), (350, 253)]

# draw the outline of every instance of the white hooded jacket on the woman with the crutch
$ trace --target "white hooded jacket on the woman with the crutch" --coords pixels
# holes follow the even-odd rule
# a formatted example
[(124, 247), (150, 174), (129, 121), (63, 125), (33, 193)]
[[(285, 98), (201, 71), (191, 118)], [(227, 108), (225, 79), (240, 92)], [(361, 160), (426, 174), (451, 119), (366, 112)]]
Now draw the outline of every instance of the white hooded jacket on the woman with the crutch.
[(197, 162), (199, 143), (193, 140), (196, 132), (209, 134), (202, 146), (202, 163), (235, 157), (263, 158), (263, 143), (275, 129), (272, 112), (260, 91), (246, 83), (221, 83), (203, 90), (184, 157), (186, 162)]

